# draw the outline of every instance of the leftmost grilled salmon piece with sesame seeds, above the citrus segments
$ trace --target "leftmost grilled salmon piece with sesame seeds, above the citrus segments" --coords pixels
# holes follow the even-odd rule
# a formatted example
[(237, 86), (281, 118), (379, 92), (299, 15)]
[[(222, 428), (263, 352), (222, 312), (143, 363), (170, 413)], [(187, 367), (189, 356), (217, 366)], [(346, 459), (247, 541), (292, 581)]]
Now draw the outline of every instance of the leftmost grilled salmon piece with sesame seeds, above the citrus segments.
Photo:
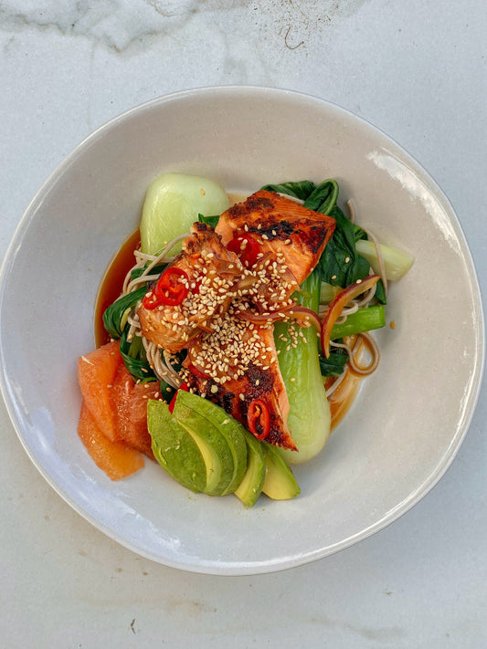
[(206, 224), (195, 223), (172, 267), (185, 271), (188, 292), (181, 304), (160, 305), (137, 314), (143, 335), (164, 350), (187, 347), (201, 330), (211, 331), (214, 318), (225, 312), (234, 297), (233, 288), (244, 271), (238, 256), (223, 245)]

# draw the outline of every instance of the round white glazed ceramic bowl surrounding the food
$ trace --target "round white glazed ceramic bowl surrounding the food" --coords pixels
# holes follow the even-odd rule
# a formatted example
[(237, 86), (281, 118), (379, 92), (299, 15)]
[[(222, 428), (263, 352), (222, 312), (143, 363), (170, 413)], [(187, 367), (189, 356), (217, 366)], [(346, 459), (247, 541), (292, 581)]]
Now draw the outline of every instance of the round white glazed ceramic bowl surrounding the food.
[[(378, 371), (323, 453), (295, 474), (302, 495), (195, 496), (151, 462), (111, 482), (77, 435), (76, 362), (93, 348), (103, 270), (138, 224), (159, 173), (195, 173), (228, 190), (327, 177), (360, 222), (416, 261), (390, 290)], [(2, 272), (1, 381), (34, 464), (112, 539), (169, 566), (251, 574), (317, 560), (411, 508), (457, 453), (482, 379), (483, 320), (471, 254), (453, 210), (382, 132), (320, 99), (262, 88), (197, 89), (156, 99), (82, 142), (24, 215)]]

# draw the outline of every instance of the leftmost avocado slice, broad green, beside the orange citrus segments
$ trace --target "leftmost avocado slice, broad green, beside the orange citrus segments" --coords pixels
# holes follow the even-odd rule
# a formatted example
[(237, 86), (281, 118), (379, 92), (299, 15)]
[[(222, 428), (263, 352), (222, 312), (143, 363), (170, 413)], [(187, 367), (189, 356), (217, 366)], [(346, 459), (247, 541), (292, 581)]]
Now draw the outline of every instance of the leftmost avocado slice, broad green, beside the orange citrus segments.
[(167, 403), (149, 399), (147, 428), (154, 457), (183, 487), (197, 493), (206, 489), (206, 464), (193, 437), (169, 412)]

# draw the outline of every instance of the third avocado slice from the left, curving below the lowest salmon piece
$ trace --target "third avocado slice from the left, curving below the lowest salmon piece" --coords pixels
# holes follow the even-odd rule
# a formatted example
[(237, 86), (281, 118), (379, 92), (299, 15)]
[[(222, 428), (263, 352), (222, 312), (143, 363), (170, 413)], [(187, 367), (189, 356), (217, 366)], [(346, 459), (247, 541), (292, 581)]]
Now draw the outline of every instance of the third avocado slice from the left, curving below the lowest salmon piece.
[(233, 460), (233, 475), (221, 495), (233, 494), (247, 471), (246, 429), (236, 419), (226, 413), (223, 408), (220, 408), (219, 405), (211, 403), (197, 394), (181, 392), (177, 395), (175, 407), (176, 417), (178, 408), (180, 407), (178, 404), (180, 406), (184, 405), (193, 412), (197, 412), (201, 420), (205, 420), (205, 422), (202, 421), (202, 426), (206, 424), (214, 425), (226, 439)]

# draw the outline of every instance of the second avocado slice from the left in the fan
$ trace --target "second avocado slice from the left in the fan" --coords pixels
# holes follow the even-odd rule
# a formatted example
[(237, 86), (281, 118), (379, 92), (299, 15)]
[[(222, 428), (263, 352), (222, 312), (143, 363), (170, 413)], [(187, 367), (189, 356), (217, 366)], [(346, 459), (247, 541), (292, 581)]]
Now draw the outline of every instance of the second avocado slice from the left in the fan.
[[(227, 439), (220, 433), (217, 426), (204, 417), (199, 410), (189, 407), (180, 391), (175, 401), (173, 416), (185, 428), (196, 442), (206, 465), (206, 487), (203, 491), (208, 496), (222, 496), (227, 493), (228, 485), (233, 478), (233, 456)], [(197, 397), (199, 408), (205, 402)]]

